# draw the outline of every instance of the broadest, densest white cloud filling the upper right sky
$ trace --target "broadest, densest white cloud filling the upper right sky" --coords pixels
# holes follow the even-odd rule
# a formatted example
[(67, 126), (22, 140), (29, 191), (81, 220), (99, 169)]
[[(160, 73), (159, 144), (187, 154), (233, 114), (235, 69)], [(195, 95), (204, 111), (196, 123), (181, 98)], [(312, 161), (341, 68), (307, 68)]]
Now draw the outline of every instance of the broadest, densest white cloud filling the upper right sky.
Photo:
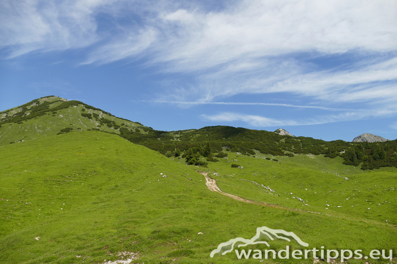
[[(396, 50), (397, 3), (392, 1), (247, 0), (223, 12), (177, 10), (163, 15), (174, 70), (198, 70), (245, 57), (296, 52)], [(173, 17), (172, 20), (167, 19)], [(175, 17), (180, 19), (175, 19)], [(188, 19), (187, 19), (188, 18)], [(178, 42), (175, 42), (178, 40)]]

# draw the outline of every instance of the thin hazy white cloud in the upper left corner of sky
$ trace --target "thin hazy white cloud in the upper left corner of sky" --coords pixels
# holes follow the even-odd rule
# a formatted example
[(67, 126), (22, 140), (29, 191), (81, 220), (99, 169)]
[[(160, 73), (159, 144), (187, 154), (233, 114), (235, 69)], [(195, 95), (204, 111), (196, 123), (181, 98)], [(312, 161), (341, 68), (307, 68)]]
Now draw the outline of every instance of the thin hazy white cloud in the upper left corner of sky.
[(4, 0), (0, 48), (8, 58), (32, 51), (77, 49), (96, 43), (96, 11), (114, 0)]

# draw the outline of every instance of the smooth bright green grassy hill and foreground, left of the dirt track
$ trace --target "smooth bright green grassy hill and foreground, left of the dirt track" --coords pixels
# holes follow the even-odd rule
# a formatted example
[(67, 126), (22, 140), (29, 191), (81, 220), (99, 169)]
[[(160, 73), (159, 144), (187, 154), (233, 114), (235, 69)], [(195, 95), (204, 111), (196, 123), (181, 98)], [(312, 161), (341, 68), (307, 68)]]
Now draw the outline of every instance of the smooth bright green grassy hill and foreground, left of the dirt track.
[[(261, 165), (266, 176), (271, 168), (283, 181), (299, 179), (299, 174), (281, 173), (289, 169), (284, 162), (235, 158), (244, 170), (229, 169), (227, 161), (209, 166), (236, 174), (218, 177), (220, 188), (229, 193), (250, 199), (265, 193), (237, 179), (244, 171), (244, 178), (259, 182), (252, 173), (262, 171)], [(7, 144), (0, 147), (0, 160), (1, 263), (101, 263), (120, 259), (117, 253), (122, 251), (138, 253), (136, 263), (230, 263), (235, 254), (210, 259), (209, 253), (229, 239), (253, 237), (260, 226), (293, 231), (309, 248), (362, 249), (368, 254), (371, 249), (397, 247), (396, 227), (373, 215), (314, 214), (237, 202), (207, 190), (196, 167), (172, 162), (116, 135), (74, 132)], [(255, 162), (251, 170), (249, 162)], [(298, 169), (297, 163), (290, 166)], [(306, 172), (301, 170), (302, 181), (307, 180)], [(269, 186), (281, 196), (265, 193), (257, 200), (271, 196), (275, 204), (320, 211), (320, 202), (311, 201), (314, 197), (308, 196), (310, 207), (302, 207), (276, 188), (281, 181), (273, 182), (275, 187)], [(271, 245), (281, 249), (285, 242)], [(297, 243), (290, 245), (299, 248)]]

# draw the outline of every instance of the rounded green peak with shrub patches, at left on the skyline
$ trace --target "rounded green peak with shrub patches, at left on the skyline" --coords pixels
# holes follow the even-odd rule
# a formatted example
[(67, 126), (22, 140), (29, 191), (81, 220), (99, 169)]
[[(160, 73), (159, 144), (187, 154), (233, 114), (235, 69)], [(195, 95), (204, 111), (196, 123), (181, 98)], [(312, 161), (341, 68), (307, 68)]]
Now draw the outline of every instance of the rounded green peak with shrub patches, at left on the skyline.
[(76, 131), (120, 134), (120, 127), (136, 133), (152, 130), (79, 101), (47, 96), (0, 112), (0, 145)]

